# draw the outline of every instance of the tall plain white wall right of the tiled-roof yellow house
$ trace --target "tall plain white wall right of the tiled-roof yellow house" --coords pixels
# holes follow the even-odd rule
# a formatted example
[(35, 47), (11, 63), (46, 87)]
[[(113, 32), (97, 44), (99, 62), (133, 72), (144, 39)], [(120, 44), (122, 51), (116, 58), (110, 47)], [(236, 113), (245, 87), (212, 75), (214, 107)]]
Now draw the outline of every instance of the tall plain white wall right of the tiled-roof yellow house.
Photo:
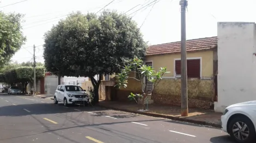
[(223, 112), (234, 103), (256, 100), (255, 23), (218, 22), (218, 102)]

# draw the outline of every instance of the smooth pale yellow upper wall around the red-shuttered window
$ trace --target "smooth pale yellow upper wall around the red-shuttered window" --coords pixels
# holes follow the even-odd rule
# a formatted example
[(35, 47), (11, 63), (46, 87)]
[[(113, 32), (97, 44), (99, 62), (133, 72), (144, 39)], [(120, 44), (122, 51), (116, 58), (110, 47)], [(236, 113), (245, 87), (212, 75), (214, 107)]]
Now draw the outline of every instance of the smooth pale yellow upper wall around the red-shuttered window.
[[(202, 57), (202, 77), (213, 76), (213, 51), (187, 53), (187, 57)], [(147, 56), (145, 61), (153, 61), (153, 68), (158, 71), (160, 67), (167, 67), (170, 72), (164, 76), (174, 76), (174, 59), (180, 59), (180, 54)]]

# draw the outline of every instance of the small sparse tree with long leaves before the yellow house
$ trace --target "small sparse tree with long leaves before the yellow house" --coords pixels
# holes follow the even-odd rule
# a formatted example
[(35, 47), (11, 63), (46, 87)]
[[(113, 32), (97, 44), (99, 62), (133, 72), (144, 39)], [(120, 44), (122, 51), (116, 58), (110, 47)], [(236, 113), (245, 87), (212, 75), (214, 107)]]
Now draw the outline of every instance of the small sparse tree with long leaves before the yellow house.
[[(137, 77), (129, 77), (130, 72), (135, 72)], [(129, 78), (141, 81), (143, 94), (131, 93), (128, 98), (130, 100), (134, 99), (137, 103), (141, 101), (143, 110), (145, 110), (145, 99), (148, 99), (148, 97), (153, 93), (154, 89), (161, 81), (162, 76), (166, 73), (169, 73), (166, 72), (166, 68), (160, 68), (159, 72), (156, 72), (151, 66), (144, 65), (142, 60), (135, 58), (132, 61), (127, 62), (127, 65), (121, 69), (121, 72), (117, 75), (117, 85), (115, 86), (119, 88), (126, 88), (128, 83), (127, 79)], [(144, 82), (145, 79), (153, 84), (151, 90), (147, 89), (147, 82)], [(138, 99), (138, 101), (136, 99)]]

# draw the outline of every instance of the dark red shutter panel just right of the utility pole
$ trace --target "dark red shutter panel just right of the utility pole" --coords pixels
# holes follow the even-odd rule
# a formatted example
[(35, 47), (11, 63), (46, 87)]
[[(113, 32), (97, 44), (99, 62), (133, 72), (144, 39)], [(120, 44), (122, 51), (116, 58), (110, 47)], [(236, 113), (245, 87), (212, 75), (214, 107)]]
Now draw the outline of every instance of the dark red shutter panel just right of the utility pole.
[(200, 78), (200, 59), (187, 60), (187, 77)]

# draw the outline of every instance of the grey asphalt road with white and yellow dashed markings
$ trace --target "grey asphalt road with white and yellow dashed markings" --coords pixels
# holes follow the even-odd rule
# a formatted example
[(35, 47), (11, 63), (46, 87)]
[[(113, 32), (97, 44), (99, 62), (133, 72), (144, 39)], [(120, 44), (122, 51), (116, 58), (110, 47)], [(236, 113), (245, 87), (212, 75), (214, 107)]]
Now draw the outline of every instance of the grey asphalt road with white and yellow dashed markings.
[(100, 107), (64, 107), (33, 96), (0, 94), (0, 143), (229, 143), (220, 129)]

